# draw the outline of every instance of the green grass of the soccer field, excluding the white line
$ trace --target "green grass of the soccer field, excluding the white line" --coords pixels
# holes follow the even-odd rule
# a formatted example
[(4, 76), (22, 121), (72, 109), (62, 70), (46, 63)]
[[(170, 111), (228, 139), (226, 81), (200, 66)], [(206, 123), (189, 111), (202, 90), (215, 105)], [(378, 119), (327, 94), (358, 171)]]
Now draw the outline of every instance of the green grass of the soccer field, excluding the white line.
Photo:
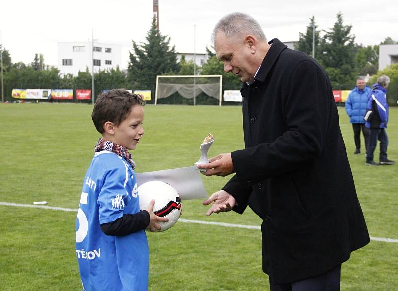
[[(0, 104), (0, 202), (77, 209), (83, 176), (99, 137), (92, 106)], [(398, 165), (365, 166), (339, 108), (358, 197), (372, 237), (398, 239)], [(133, 151), (137, 172), (191, 166), (199, 144), (210, 156), (243, 147), (241, 107), (146, 105), (145, 135)], [(391, 108), (389, 158), (398, 161), (398, 108)], [(362, 149), (364, 151), (364, 149)], [(377, 161), (379, 149), (375, 151)], [(228, 178), (204, 177), (209, 194)], [(260, 225), (251, 211), (206, 217), (201, 200), (183, 203), (184, 219)], [(75, 255), (76, 212), (0, 205), (0, 290), (81, 290)], [(148, 233), (149, 290), (268, 290), (259, 230), (178, 222)], [(371, 241), (342, 266), (341, 289), (398, 290), (398, 243)]]

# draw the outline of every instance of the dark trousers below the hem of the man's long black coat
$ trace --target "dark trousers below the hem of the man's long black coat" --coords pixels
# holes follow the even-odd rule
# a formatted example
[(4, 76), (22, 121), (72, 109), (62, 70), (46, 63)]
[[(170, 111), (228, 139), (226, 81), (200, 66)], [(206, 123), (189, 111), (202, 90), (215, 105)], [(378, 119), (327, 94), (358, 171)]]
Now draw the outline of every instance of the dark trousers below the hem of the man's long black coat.
[(271, 291), (340, 291), (341, 264), (318, 276), (297, 282), (272, 285)]

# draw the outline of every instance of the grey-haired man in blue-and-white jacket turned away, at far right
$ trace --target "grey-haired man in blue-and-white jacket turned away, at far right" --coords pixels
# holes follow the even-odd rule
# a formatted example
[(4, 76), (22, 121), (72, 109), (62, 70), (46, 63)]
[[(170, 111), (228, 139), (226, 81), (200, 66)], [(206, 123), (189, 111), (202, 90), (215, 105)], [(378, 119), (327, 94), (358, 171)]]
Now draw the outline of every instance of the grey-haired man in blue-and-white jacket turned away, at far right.
[(366, 120), (366, 127), (370, 128), (369, 145), (366, 151), (366, 165), (377, 165), (373, 160), (373, 152), (375, 151), (377, 140), (380, 141), (379, 164), (394, 164), (394, 161), (387, 158), (389, 138), (386, 133), (386, 128), (389, 120), (389, 105), (386, 93), (389, 84), (390, 78), (388, 76), (380, 76), (369, 94), (367, 112), (364, 117)]

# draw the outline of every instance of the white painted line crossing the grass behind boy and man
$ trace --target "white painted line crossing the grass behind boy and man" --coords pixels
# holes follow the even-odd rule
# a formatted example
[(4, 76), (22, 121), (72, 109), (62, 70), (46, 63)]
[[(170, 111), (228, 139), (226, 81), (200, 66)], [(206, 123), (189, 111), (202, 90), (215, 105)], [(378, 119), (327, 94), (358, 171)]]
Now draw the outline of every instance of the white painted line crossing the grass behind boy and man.
[[(17, 203), (8, 203), (1, 202), (0, 205), (4, 206), (17, 206), (17, 207), (31, 207), (31, 208), (42, 208), (42, 209), (50, 209), (50, 210), (61, 210), (61, 211), (69, 211), (69, 212), (77, 212), (77, 209), (72, 208), (64, 208), (64, 207), (52, 207), (45, 205), (31, 205), (31, 204), (17, 204)], [(199, 223), (199, 224), (207, 224), (207, 225), (216, 225), (216, 226), (224, 226), (224, 227), (234, 227), (234, 228), (245, 228), (245, 229), (255, 229), (260, 230), (260, 226), (256, 225), (243, 225), (243, 224), (232, 224), (232, 223), (224, 223), (224, 222), (212, 222), (212, 221), (201, 221), (201, 220), (189, 220), (189, 219), (178, 219), (179, 222), (183, 223)], [(385, 238), (385, 237), (370, 237), (373, 241), (382, 241), (382, 242), (391, 242), (398, 243), (398, 239), (394, 238)]]

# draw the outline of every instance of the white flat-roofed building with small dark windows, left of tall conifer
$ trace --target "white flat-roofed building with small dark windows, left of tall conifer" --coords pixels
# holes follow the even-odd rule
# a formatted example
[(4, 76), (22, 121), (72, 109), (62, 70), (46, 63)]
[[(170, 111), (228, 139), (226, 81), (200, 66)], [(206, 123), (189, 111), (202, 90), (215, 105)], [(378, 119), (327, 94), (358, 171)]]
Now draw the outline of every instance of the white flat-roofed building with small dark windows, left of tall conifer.
[[(92, 56), (93, 50), (93, 56)], [(89, 68), (91, 72), (92, 59), (94, 72), (116, 68), (122, 70), (122, 46), (115, 44), (86, 42), (59, 42), (58, 69), (60, 73), (77, 75)]]

